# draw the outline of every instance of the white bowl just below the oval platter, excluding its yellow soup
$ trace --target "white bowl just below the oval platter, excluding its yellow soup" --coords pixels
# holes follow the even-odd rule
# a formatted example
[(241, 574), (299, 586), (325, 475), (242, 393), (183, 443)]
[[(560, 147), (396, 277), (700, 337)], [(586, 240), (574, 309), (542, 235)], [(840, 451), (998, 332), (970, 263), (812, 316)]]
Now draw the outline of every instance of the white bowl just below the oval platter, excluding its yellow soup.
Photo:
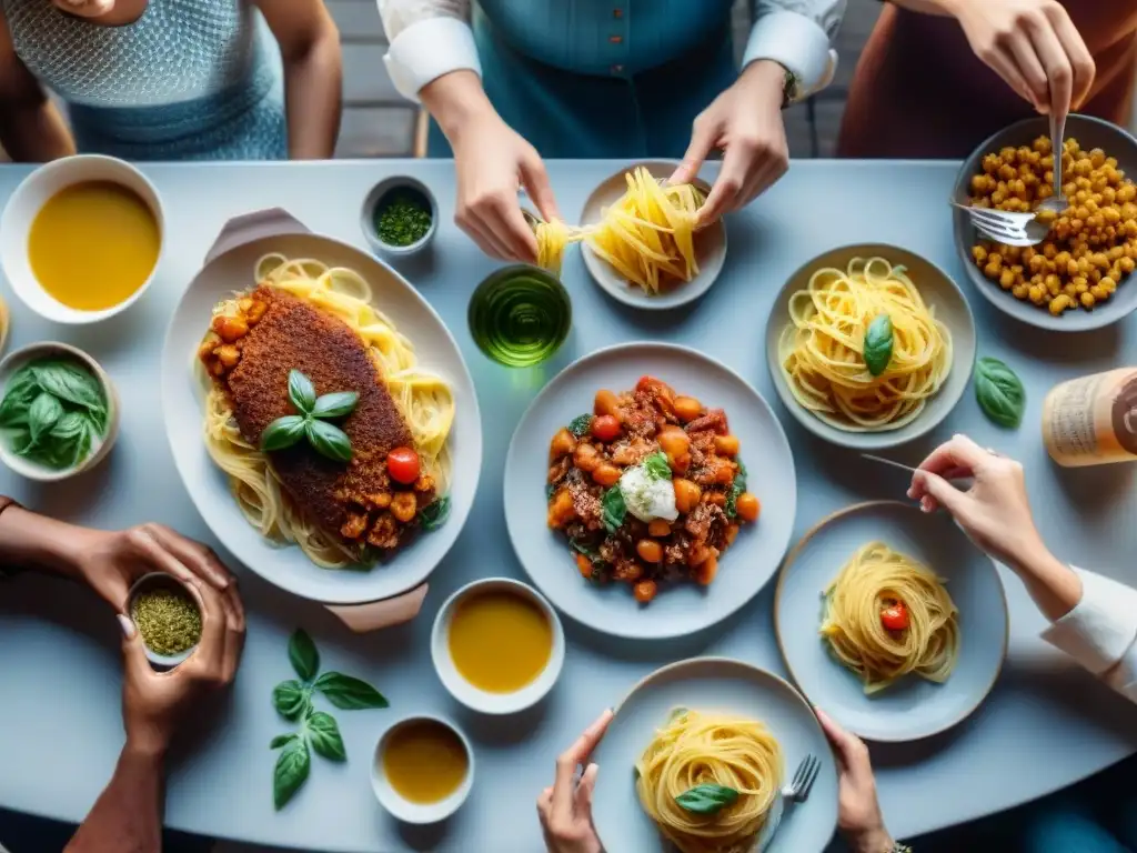
[[(454, 665), (450, 657), (450, 621), (458, 604), (470, 595), (480, 593), (506, 591), (536, 604), (553, 629), (553, 652), (541, 673), (514, 693), (490, 693), (474, 687)], [(434, 670), (446, 689), (466, 707), (483, 714), (514, 714), (524, 711), (540, 702), (553, 689), (561, 677), (561, 668), (565, 662), (565, 635), (556, 611), (545, 596), (526, 583), (512, 578), (485, 578), (467, 583), (446, 599), (434, 618), (434, 627), (430, 638), (431, 657)]]

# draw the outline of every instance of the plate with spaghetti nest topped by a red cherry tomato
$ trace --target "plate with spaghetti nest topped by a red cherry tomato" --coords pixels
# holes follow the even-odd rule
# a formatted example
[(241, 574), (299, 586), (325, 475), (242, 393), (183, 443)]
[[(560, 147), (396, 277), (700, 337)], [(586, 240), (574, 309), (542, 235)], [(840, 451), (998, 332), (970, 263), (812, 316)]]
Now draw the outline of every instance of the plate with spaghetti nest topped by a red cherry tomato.
[(886, 500), (830, 515), (794, 547), (774, 628), (811, 703), (862, 737), (915, 740), (984, 702), (1009, 618), (995, 564), (949, 517)]

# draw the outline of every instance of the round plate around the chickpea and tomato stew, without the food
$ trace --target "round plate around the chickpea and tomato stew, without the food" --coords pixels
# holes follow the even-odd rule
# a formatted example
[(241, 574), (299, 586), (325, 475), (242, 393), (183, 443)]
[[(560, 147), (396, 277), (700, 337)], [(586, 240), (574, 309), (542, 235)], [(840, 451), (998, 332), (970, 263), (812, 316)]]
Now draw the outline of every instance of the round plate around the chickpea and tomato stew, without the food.
[[(595, 587), (580, 577), (564, 536), (546, 523), (549, 440), (573, 417), (592, 411), (601, 388), (625, 391), (644, 374), (677, 394), (723, 408), (741, 442), (747, 486), (762, 502), (757, 524), (746, 525), (719, 561), (708, 587), (667, 587), (648, 605), (626, 583)], [(715, 624), (749, 602), (786, 554), (797, 507), (794, 457), (769, 404), (737, 373), (694, 349), (625, 343), (568, 365), (533, 400), (517, 424), (505, 463), (505, 520), (517, 558), (545, 596), (564, 613), (604, 633), (638, 639), (680, 637)]]

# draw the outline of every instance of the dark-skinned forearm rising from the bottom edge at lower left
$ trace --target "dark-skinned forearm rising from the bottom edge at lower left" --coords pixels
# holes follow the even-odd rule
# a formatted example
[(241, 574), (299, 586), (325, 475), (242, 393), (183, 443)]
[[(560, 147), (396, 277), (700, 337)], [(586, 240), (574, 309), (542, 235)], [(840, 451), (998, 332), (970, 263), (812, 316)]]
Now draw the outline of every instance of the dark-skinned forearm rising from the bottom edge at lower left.
[(160, 750), (127, 739), (115, 775), (64, 853), (160, 853)]

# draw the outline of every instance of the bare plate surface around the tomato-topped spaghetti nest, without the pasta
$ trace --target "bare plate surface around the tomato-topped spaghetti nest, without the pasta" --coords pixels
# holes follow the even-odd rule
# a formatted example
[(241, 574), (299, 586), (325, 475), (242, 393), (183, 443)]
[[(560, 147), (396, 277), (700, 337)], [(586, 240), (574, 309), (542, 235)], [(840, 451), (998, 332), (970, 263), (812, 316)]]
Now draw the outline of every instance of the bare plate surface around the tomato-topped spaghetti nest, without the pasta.
[[(960, 610), (960, 660), (941, 685), (908, 676), (866, 696), (861, 680), (818, 635), (822, 590), (862, 545), (879, 539), (947, 578)], [(871, 740), (915, 740), (955, 726), (991, 691), (1009, 631), (995, 564), (947, 515), (894, 500), (858, 504), (825, 519), (786, 558), (774, 595), (774, 630), (786, 668), (811, 703)]]

